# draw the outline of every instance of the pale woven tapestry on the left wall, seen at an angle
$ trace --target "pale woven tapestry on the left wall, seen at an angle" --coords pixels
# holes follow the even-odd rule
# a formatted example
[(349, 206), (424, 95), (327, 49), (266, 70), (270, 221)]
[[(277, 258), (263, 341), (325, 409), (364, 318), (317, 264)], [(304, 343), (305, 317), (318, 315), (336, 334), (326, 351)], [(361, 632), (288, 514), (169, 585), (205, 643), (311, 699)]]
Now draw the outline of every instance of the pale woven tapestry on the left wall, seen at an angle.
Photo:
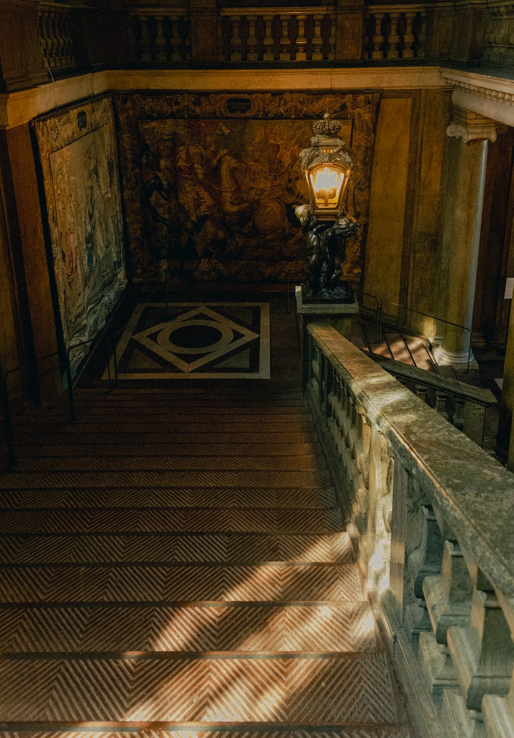
[[(126, 285), (123, 219), (110, 97), (34, 123), (66, 348), (105, 324)], [(72, 352), (72, 367), (88, 351)]]

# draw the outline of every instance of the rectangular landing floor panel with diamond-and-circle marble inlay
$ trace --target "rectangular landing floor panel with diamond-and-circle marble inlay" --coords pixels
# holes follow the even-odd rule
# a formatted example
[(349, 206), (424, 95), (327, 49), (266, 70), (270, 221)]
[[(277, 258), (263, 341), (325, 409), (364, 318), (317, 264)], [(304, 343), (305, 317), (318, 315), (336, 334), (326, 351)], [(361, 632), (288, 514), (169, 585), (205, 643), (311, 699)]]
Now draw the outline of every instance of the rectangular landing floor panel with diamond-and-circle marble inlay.
[(270, 379), (270, 305), (138, 303), (116, 354), (121, 380)]

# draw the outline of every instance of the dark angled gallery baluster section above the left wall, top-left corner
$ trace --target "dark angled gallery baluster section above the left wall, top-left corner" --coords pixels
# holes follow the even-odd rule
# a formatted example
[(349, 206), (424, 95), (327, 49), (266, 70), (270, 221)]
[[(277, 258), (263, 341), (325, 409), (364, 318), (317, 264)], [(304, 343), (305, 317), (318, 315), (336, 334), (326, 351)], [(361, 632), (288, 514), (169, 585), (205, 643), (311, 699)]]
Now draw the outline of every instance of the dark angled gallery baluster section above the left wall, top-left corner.
[(41, 66), (50, 69), (67, 69), (75, 66), (69, 8), (40, 7), (38, 27), (41, 51)]

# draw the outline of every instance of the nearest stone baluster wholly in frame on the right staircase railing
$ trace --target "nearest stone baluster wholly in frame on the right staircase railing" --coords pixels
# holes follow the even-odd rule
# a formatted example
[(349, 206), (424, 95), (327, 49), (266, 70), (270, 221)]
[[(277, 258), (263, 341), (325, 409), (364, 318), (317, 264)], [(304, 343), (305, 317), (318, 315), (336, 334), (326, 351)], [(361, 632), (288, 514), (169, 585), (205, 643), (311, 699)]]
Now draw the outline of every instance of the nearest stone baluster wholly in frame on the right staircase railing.
[(419, 652), (434, 693), (458, 686), (446, 638), (450, 626), (469, 624), (473, 596), (473, 582), (459, 544), (449, 531), (447, 537), (441, 575), (426, 576), (423, 581), (423, 593), (434, 632), (419, 634)]

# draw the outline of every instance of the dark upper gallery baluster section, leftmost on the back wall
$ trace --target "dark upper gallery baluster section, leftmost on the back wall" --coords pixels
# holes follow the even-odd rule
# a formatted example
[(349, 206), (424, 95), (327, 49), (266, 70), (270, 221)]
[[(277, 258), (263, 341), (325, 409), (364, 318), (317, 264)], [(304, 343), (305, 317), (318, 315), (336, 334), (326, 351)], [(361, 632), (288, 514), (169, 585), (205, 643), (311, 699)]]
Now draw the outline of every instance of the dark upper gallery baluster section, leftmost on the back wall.
[(131, 58), (136, 62), (174, 63), (191, 58), (191, 30), (186, 10), (137, 10), (128, 24)]

